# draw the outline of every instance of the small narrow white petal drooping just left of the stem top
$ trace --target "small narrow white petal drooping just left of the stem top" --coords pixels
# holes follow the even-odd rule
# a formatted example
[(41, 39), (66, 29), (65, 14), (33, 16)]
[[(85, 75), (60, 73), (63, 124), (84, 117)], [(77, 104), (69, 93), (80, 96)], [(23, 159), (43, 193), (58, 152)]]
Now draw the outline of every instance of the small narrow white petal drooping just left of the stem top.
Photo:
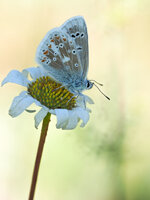
[(40, 122), (44, 119), (44, 117), (47, 115), (49, 112), (49, 109), (43, 106), (41, 110), (35, 115), (34, 120), (35, 120), (35, 128), (38, 128)]

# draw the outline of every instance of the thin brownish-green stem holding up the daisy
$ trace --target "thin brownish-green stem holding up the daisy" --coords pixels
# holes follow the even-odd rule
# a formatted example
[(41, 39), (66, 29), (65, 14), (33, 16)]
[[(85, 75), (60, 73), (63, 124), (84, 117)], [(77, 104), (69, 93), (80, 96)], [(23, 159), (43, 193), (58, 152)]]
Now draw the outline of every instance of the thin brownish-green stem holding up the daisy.
[(45, 138), (46, 138), (47, 131), (48, 131), (50, 117), (51, 117), (51, 114), (48, 113), (43, 120), (41, 136), (40, 136), (39, 146), (38, 146), (36, 160), (35, 160), (35, 164), (34, 164), (34, 171), (33, 171), (33, 175), (32, 175), (32, 183), (31, 183), (31, 187), (30, 187), (29, 200), (33, 200), (33, 198), (34, 198), (35, 187), (36, 187), (36, 182), (37, 182), (37, 177), (38, 177), (38, 172), (39, 172), (39, 166), (40, 166), (40, 162), (41, 162)]

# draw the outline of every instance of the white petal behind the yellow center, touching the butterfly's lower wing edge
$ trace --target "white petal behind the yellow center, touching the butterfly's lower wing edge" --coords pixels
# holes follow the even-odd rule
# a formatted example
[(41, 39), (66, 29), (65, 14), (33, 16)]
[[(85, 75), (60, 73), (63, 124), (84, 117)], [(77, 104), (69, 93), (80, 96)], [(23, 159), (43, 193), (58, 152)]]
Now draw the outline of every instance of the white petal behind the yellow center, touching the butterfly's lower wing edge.
[(30, 68), (24, 69), (22, 73), (26, 77), (28, 77), (28, 75), (30, 74), (33, 80), (36, 80), (37, 78), (40, 78), (42, 76), (46, 76), (45, 71), (41, 67), (30, 67)]

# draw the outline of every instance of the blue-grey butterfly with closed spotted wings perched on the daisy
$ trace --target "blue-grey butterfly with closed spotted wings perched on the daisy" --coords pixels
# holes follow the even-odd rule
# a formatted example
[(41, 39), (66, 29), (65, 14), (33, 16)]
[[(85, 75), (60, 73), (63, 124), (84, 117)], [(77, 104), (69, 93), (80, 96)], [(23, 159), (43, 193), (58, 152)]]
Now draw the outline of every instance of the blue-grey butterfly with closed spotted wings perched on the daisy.
[(37, 48), (36, 61), (74, 95), (91, 89), (94, 83), (87, 79), (89, 50), (84, 18), (75, 16), (50, 30)]

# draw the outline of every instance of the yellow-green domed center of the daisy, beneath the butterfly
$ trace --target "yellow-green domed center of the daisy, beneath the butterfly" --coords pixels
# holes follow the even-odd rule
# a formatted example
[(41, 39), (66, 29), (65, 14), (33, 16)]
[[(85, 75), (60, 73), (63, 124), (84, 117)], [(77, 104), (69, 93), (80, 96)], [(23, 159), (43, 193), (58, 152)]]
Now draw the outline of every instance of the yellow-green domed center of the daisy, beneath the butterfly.
[(76, 97), (50, 77), (41, 77), (28, 85), (28, 93), (49, 109), (76, 107)]

